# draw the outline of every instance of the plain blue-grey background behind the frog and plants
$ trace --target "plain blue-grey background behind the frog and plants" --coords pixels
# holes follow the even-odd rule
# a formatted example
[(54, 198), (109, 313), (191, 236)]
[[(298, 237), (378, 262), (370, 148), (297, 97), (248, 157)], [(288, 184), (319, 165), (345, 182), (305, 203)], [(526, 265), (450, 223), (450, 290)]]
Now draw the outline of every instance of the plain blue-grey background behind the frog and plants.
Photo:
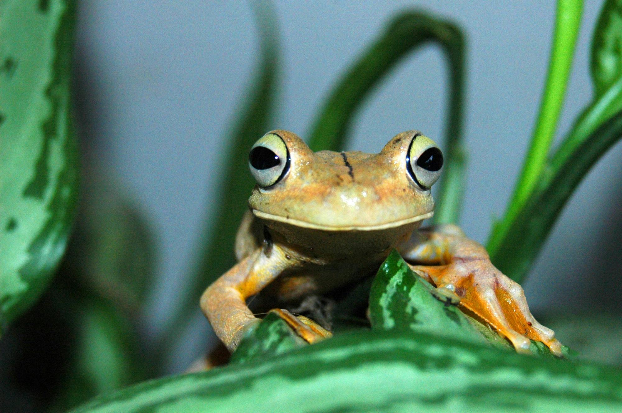
[[(531, 137), (555, 2), (283, 0), (274, 5), (282, 40), (274, 127), (302, 137), (336, 79), (397, 11), (423, 7), (463, 27), (469, 163), (462, 225), (466, 234), (485, 242), (492, 217), (504, 211)], [(585, 2), (560, 132), (592, 97), (588, 56), (599, 9), (599, 1)], [(99, 166), (118, 178), (152, 224), (159, 256), (152, 330), (159, 329), (195, 262), (205, 211), (218, 202), (210, 194), (228, 161), (221, 154), (230, 120), (257, 62), (258, 31), (248, 2), (81, 2), (77, 97), (83, 145), (91, 154), (85, 167)], [(408, 129), (440, 141), (445, 76), (435, 47), (402, 61), (364, 104), (347, 148), (378, 152)], [(593, 307), (600, 291), (617, 285), (621, 158), (622, 145), (616, 145), (560, 217), (525, 284), (532, 309)], [(197, 322), (195, 348), (186, 349), (186, 358), (202, 351), (207, 329), (205, 320)]]

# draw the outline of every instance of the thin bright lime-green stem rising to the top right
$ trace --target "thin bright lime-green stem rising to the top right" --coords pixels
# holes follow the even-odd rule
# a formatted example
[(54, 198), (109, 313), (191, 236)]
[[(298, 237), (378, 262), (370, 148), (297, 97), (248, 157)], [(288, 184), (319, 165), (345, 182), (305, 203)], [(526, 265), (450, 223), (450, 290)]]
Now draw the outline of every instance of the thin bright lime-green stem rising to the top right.
[(491, 235), (488, 243), (489, 252), (494, 253), (499, 248), (500, 240), (516, 220), (522, 207), (534, 191), (542, 170), (544, 170), (564, 103), (564, 94), (572, 66), (582, 9), (582, 0), (559, 0), (557, 2), (557, 18), (549, 61), (549, 73), (542, 95), (536, 128), (522, 166), (521, 176), (509, 202), (508, 211), (503, 220), (496, 225)]

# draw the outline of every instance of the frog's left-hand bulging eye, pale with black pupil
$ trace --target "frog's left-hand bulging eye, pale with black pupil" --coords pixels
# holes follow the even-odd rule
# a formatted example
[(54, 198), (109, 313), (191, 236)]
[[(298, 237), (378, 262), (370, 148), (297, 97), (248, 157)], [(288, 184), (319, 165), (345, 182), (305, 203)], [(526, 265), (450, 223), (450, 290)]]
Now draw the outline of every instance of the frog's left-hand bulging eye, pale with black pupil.
[(272, 186), (289, 171), (289, 151), (277, 134), (261, 137), (248, 154), (248, 166), (253, 178), (262, 188)]

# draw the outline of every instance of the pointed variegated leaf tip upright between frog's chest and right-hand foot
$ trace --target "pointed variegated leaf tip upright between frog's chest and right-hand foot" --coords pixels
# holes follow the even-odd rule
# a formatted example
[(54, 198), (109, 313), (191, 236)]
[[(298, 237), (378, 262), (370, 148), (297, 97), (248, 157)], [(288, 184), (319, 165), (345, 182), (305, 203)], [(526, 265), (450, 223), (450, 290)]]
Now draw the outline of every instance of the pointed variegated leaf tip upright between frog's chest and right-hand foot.
[(371, 284), (371, 327), (432, 332), (483, 343), (481, 334), (458, 307), (437, 299), (432, 294), (434, 289), (393, 250)]

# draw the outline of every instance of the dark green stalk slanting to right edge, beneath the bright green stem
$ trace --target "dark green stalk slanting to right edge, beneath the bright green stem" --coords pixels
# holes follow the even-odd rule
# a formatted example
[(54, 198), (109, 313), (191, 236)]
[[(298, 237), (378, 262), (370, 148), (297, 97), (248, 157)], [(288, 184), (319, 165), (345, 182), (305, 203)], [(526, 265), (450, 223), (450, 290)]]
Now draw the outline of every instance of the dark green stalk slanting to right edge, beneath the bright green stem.
[(574, 148), (564, 162), (554, 158), (534, 194), (514, 220), (499, 248), (491, 253), (494, 265), (521, 282), (542, 244), (580, 181), (592, 165), (622, 137), (622, 112)]

